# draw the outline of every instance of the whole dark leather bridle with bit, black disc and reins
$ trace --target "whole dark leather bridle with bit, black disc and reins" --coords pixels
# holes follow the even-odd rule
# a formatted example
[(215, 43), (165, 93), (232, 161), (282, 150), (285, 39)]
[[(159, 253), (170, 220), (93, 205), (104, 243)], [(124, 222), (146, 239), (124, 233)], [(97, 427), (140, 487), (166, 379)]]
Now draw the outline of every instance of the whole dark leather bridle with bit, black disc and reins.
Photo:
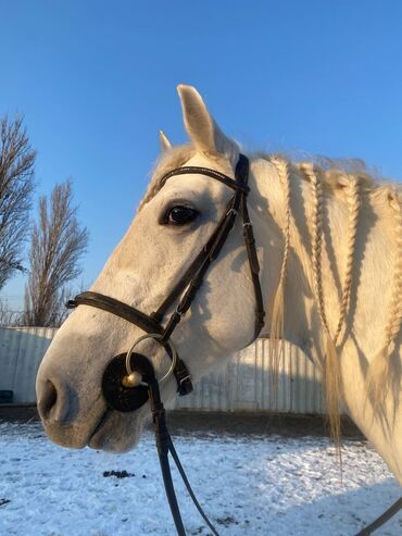
[[(239, 213), (242, 219), (243, 239), (255, 296), (254, 334), (253, 338), (250, 340), (250, 344), (257, 338), (262, 327), (264, 326), (265, 312), (260, 284), (260, 264), (255, 249), (253, 228), (247, 207), (247, 196), (250, 191), (248, 186), (248, 158), (243, 154), (239, 155), (235, 170), (235, 178), (231, 178), (216, 170), (211, 170), (210, 167), (184, 166), (172, 170), (163, 175), (160, 179), (161, 188), (168, 178), (185, 174), (200, 174), (214, 178), (215, 180), (219, 180), (227, 187), (231, 188), (234, 194), (227, 202), (225, 211), (218, 221), (215, 230), (212, 233), (209, 240), (187, 269), (185, 274), (161, 303), (159, 309), (148, 315), (142, 311), (139, 311), (138, 309), (123, 303), (114, 298), (91, 291), (79, 294), (74, 298), (74, 300), (70, 300), (66, 306), (70, 309), (74, 309), (78, 306), (90, 306), (102, 309), (103, 311), (112, 313), (126, 320), (127, 322), (130, 322), (131, 324), (135, 324), (146, 332), (147, 335), (139, 337), (127, 353), (122, 353), (114, 357), (108, 364), (102, 379), (103, 396), (106, 400), (109, 409), (114, 409), (122, 412), (139, 409), (149, 400), (155, 429), (156, 448), (161, 463), (162, 476), (178, 536), (186, 536), (186, 531), (181, 521), (181, 515), (173, 486), (168, 453), (172, 454), (184, 484), (201, 516), (212, 533), (215, 536), (219, 536), (198, 502), (178, 459), (166, 427), (165, 410), (160, 398), (159, 384), (166, 381), (171, 374), (174, 374), (177, 382), (177, 392), (179, 396), (185, 396), (192, 391), (190, 372), (186, 363), (177, 356), (177, 351), (171, 340), (171, 336), (179, 324), (181, 316), (185, 315), (191, 307), (191, 303), (203, 283), (211, 263), (219, 254)], [(163, 326), (162, 322), (174, 303), (177, 303), (176, 309), (169, 315), (165, 326)], [(152, 362), (146, 356), (134, 352), (136, 346), (146, 338), (156, 340), (164, 347), (167, 354), (172, 359), (172, 365), (168, 372), (161, 379), (156, 379)], [(137, 377), (135, 377), (136, 373)], [(389, 508), (370, 525), (359, 532), (355, 536), (370, 535), (375, 529), (394, 515), (401, 508), (402, 498), (392, 504), (391, 508)]]

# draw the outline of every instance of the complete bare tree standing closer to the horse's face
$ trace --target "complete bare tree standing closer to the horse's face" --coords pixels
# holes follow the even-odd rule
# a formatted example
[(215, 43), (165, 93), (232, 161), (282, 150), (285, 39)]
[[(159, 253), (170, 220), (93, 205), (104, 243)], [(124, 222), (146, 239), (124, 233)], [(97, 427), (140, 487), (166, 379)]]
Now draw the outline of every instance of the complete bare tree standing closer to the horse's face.
[(25, 289), (25, 325), (59, 326), (65, 317), (66, 284), (81, 272), (79, 259), (88, 232), (77, 220), (70, 179), (58, 184), (50, 199), (39, 200), (39, 221), (32, 232), (29, 279)]

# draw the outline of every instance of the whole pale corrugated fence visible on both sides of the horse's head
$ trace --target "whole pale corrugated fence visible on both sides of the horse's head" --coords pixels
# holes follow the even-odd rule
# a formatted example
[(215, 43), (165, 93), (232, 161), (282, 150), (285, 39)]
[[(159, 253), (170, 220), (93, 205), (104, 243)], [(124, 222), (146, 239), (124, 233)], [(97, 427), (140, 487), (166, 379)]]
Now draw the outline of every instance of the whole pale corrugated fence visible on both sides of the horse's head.
[[(35, 402), (35, 377), (56, 329), (0, 328), (0, 389), (14, 391), (14, 402)], [(222, 373), (205, 376), (176, 408), (221, 411), (324, 413), (318, 371), (296, 347), (286, 346), (277, 395), (272, 389), (268, 341), (235, 354)]]

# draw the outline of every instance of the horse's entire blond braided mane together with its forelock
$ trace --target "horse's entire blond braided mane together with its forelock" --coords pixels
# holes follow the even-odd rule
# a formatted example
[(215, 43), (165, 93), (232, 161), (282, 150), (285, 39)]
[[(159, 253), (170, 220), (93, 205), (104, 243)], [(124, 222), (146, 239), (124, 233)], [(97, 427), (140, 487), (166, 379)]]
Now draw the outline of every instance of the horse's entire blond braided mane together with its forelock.
[[(164, 173), (184, 165), (193, 154), (191, 145), (173, 147), (161, 159), (152, 173), (152, 180), (139, 209), (150, 201), (160, 189), (159, 177)], [(326, 406), (332, 438), (340, 440), (339, 403), (341, 394), (341, 375), (339, 363), (339, 347), (341, 335), (347, 331), (347, 317), (350, 308), (350, 295), (354, 276), (354, 259), (356, 237), (359, 236), (359, 221), (363, 198), (369, 196), (386, 196), (389, 210), (394, 221), (394, 254), (392, 259), (393, 275), (390, 303), (387, 312), (387, 322), (384, 327), (384, 345), (372, 361), (366, 375), (367, 392), (372, 402), (381, 408), (390, 385), (389, 356), (401, 329), (402, 322), (402, 188), (395, 184), (388, 184), (376, 179), (368, 173), (361, 161), (317, 159), (315, 162), (292, 163), (284, 155), (255, 154), (271, 162), (279, 176), (285, 197), (285, 227), (284, 253), (279, 273), (278, 288), (272, 304), (271, 326), (271, 367), (273, 378), (278, 377), (280, 359), (284, 356), (282, 334), (285, 322), (285, 291), (286, 278), (291, 249), (291, 198), (292, 180), (304, 180), (310, 185), (312, 219), (309, 224), (311, 240), (311, 275), (314, 298), (319, 314), (324, 335), (324, 360), (322, 373), (326, 392)], [(326, 314), (326, 297), (323, 288), (322, 251), (325, 240), (323, 217), (326, 199), (339, 197), (347, 207), (348, 234), (346, 236), (347, 254), (343, 259), (343, 274), (338, 323), (334, 333), (330, 332)]]

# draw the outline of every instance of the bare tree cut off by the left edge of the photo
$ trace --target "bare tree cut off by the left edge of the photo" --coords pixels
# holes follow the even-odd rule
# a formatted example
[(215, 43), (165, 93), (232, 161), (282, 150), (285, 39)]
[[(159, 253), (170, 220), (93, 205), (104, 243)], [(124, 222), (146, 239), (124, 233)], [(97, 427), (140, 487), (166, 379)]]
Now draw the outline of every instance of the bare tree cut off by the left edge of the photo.
[(22, 248), (27, 235), (36, 152), (23, 119), (0, 120), (0, 289), (23, 272)]

